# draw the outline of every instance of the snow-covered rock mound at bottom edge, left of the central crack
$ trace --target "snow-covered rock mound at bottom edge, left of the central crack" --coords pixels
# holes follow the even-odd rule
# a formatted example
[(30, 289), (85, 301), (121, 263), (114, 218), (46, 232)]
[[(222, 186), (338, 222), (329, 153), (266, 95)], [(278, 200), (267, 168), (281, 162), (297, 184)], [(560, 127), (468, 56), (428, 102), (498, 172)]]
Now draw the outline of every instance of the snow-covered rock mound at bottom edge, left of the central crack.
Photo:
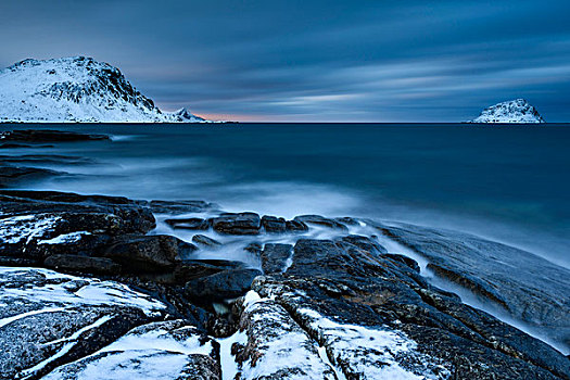
[(219, 345), (182, 320), (137, 327), (46, 380), (219, 379)]

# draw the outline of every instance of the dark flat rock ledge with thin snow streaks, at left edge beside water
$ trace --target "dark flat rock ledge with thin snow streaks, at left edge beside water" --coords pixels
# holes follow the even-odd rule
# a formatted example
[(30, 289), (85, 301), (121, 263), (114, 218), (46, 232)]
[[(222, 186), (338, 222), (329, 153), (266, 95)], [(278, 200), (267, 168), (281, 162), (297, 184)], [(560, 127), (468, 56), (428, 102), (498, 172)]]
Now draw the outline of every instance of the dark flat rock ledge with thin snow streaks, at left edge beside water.
[(0, 191), (0, 250), (42, 263), (50, 255), (102, 255), (117, 236), (154, 228), (135, 201), (51, 191)]

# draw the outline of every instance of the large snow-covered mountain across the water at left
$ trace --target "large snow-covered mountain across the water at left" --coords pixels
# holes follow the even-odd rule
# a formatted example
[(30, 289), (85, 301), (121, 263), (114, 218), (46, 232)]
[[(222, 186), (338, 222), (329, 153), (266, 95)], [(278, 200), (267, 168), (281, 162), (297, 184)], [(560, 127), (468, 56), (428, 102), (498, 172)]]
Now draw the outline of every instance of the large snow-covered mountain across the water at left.
[(0, 71), (0, 122), (199, 123), (159, 110), (107, 63), (74, 56), (25, 60)]

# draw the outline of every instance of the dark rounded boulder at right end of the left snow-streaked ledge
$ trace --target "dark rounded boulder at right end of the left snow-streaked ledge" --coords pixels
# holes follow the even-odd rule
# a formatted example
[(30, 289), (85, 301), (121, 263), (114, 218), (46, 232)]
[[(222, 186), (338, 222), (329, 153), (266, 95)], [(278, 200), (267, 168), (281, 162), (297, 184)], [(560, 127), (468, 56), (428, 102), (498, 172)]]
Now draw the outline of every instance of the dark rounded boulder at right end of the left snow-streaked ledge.
[(178, 239), (166, 235), (117, 237), (103, 255), (128, 270), (144, 273), (174, 268), (181, 261)]

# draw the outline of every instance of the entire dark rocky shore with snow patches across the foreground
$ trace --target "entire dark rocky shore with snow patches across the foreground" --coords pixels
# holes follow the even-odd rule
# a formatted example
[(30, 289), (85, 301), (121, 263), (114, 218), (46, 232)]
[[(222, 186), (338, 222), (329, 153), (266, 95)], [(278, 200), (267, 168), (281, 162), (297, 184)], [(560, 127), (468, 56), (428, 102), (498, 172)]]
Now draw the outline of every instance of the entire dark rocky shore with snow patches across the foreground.
[[(68, 138), (30, 135), (2, 136)], [(0, 159), (0, 379), (570, 379), (562, 353), (430, 277), (568, 345), (570, 274), (529, 252), (385, 220), (8, 189), (36, 162)]]

